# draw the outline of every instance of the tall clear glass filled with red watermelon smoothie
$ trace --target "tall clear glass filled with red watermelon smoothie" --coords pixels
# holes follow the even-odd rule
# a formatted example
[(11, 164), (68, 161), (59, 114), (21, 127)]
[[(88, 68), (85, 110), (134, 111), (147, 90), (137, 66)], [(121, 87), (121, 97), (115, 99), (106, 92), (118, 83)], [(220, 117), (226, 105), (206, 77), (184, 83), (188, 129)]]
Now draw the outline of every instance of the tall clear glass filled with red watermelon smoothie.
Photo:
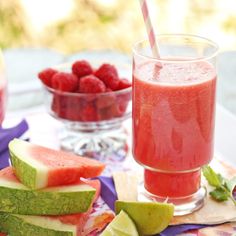
[(144, 167), (139, 199), (199, 209), (201, 167), (213, 157), (217, 45), (193, 35), (159, 35), (133, 48), (133, 155)]

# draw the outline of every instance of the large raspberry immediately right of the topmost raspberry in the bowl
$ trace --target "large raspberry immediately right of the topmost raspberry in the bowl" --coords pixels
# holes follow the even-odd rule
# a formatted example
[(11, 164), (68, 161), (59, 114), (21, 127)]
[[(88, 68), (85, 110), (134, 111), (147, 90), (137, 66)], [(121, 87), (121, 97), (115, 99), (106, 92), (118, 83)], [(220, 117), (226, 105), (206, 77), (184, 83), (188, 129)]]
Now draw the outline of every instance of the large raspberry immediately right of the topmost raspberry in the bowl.
[(104, 84), (112, 89), (116, 90), (119, 86), (119, 77), (116, 68), (110, 64), (101, 65), (96, 71), (95, 76), (104, 82)]

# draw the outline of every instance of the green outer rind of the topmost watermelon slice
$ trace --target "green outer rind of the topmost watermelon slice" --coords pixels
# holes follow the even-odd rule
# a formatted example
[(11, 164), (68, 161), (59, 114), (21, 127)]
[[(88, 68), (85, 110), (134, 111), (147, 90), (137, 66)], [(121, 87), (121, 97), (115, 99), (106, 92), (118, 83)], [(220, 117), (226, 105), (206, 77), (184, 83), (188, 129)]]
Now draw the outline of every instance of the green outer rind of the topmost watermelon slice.
[(20, 158), (17, 158), (14, 153), (11, 152), (11, 150), (10, 159), (12, 166), (15, 167), (14, 169), (16, 176), (21, 180), (22, 183), (24, 183), (24, 185), (29, 188), (35, 189), (37, 186), (37, 170), (28, 165), (26, 162), (22, 161)]

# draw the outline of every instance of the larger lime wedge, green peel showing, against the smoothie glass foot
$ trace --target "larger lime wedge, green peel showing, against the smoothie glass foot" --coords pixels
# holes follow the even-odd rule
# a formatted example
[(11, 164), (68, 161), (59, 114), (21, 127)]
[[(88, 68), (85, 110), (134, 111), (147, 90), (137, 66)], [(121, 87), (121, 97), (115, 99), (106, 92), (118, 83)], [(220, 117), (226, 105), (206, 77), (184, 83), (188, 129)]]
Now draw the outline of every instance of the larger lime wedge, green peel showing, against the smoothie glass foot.
[(116, 201), (115, 209), (116, 214), (125, 211), (141, 235), (160, 233), (174, 215), (174, 205), (169, 203)]

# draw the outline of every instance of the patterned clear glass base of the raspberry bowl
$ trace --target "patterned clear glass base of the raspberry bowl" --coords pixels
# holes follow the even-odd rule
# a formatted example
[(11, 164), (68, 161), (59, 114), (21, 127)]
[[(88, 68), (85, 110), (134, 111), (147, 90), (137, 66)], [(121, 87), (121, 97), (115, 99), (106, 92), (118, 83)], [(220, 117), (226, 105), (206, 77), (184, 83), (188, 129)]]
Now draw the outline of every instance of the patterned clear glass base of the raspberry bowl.
[(127, 134), (122, 127), (111, 130), (73, 130), (65, 127), (60, 134), (63, 150), (105, 162), (124, 159), (128, 152)]

